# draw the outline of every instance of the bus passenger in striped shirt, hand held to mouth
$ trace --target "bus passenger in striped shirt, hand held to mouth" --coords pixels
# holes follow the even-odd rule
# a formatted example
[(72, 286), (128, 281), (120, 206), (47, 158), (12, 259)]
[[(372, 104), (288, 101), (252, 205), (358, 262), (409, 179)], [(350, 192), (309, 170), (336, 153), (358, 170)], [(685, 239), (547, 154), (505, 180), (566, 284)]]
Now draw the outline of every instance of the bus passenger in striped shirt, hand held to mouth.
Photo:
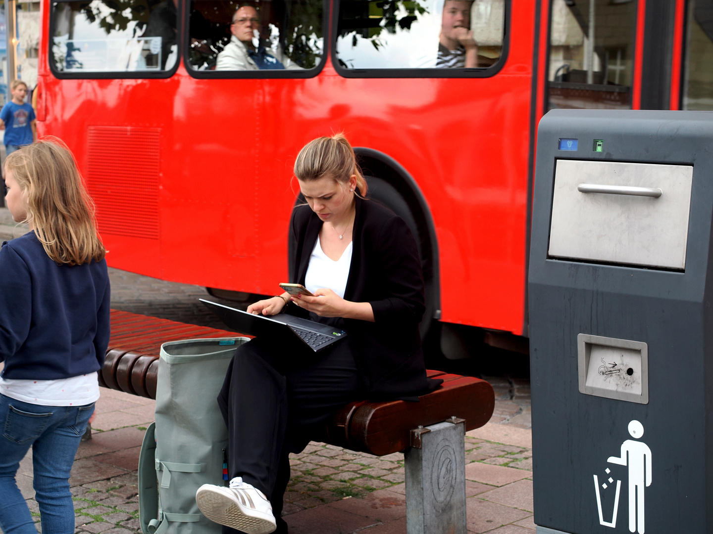
[(472, 0), (446, 0), (443, 3), (436, 68), (478, 66), (478, 44), (471, 30), (472, 5)]

